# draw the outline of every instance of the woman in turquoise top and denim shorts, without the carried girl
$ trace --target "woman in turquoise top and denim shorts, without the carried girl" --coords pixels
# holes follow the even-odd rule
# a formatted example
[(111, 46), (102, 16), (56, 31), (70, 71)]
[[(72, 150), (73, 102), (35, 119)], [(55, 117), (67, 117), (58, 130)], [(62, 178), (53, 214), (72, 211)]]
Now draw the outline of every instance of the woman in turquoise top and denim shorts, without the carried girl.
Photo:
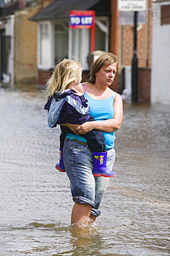
[(93, 153), (88, 148), (84, 134), (100, 130), (106, 144), (106, 166), (113, 169), (115, 161), (115, 131), (120, 129), (123, 118), (122, 98), (108, 88), (117, 72), (117, 57), (113, 53), (104, 53), (95, 60), (87, 82), (74, 88), (88, 99), (90, 115), (95, 119), (82, 125), (63, 124), (75, 134), (66, 134), (63, 147), (64, 168), (70, 180), (70, 190), (75, 202), (71, 214), (71, 223), (95, 221), (100, 216), (100, 203), (110, 178), (93, 175)]

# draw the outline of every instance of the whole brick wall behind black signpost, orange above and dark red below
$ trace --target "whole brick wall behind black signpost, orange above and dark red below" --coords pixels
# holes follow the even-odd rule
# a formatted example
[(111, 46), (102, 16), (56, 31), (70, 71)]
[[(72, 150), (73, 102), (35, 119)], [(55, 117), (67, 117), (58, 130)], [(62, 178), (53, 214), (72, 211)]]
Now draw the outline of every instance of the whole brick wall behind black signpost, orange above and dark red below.
[[(152, 0), (148, 0), (146, 23), (138, 24), (138, 100), (149, 102), (151, 98), (151, 64), (152, 64)], [(133, 58), (133, 25), (120, 26), (117, 1), (111, 0), (111, 31), (109, 51), (117, 55), (118, 64), (131, 66)], [(117, 27), (116, 27), (117, 26)], [(111, 89), (121, 93), (123, 88), (121, 75), (117, 73)]]

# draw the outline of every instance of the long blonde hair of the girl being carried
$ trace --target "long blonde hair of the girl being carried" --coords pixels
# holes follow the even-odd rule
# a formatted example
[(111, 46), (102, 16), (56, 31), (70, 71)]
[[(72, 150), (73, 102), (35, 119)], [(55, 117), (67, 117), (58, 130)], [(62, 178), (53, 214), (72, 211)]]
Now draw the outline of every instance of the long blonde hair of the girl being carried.
[(57, 64), (53, 75), (47, 81), (46, 93), (52, 97), (57, 91), (64, 91), (79, 77), (82, 64), (79, 61), (64, 59)]

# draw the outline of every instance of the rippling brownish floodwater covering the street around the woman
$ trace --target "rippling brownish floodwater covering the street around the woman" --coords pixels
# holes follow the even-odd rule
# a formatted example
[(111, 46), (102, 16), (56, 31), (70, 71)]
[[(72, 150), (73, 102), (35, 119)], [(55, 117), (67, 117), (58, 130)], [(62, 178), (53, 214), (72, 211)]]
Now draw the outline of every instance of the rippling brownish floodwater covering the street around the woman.
[(124, 103), (97, 225), (70, 226), (69, 181), (55, 170), (59, 127), (40, 90), (0, 87), (0, 255), (168, 256), (170, 107)]

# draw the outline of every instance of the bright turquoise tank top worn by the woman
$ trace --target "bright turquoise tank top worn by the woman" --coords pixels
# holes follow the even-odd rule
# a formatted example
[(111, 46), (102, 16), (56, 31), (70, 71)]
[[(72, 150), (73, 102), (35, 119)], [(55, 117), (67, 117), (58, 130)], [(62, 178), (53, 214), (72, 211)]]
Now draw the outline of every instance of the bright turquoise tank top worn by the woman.
[[(85, 91), (84, 96), (86, 99), (88, 99), (88, 104), (90, 107), (90, 115), (93, 116), (93, 118), (97, 121), (111, 119), (114, 116), (114, 109), (113, 109), (113, 101), (115, 97), (115, 93), (113, 93), (109, 98), (106, 100), (93, 100)], [(104, 134), (106, 149), (111, 149), (114, 147), (115, 143), (115, 133), (110, 132), (106, 133), (102, 131)], [(86, 138), (76, 135), (76, 134), (67, 134), (66, 138), (74, 139), (84, 141), (86, 142)]]

